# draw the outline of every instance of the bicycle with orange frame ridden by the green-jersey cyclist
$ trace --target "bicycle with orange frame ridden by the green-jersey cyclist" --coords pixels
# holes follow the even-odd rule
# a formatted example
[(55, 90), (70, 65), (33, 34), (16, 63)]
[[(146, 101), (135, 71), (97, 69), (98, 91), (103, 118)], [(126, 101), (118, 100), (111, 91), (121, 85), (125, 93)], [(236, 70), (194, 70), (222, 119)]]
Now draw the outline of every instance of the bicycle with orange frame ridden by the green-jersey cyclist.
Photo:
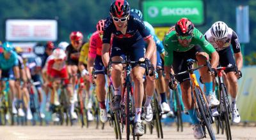
[(211, 125), (211, 123), (213, 123), (211, 109), (210, 109), (208, 102), (205, 98), (203, 90), (200, 88), (198, 81), (196, 80), (196, 75), (194, 74), (194, 71), (196, 71), (197, 69), (200, 69), (201, 67), (204, 67), (204, 66), (207, 66), (209, 68), (209, 70), (212, 71), (211, 64), (209, 64), (209, 61), (207, 60), (206, 64), (204, 64), (202, 66), (198, 66), (196, 68), (193, 68), (193, 64), (195, 63), (195, 60), (188, 59), (187, 63), (188, 63), (187, 71), (184, 71), (181, 73), (176, 73), (176, 74), (170, 73), (171, 81), (169, 83), (169, 87), (171, 89), (174, 89), (173, 80), (175, 80), (174, 79), (175, 76), (187, 74), (187, 73), (189, 74), (189, 78), (192, 83), (191, 86), (192, 86), (192, 90), (193, 90), (192, 100), (195, 103), (195, 107), (196, 107), (195, 111), (196, 111), (197, 118), (198, 118), (198, 120), (200, 120), (200, 124), (202, 125), (203, 130), (204, 130), (204, 137), (206, 137), (206, 131), (205, 131), (205, 127), (206, 127), (211, 139), (216, 139), (214, 136), (214, 132), (212, 130), (212, 125)]

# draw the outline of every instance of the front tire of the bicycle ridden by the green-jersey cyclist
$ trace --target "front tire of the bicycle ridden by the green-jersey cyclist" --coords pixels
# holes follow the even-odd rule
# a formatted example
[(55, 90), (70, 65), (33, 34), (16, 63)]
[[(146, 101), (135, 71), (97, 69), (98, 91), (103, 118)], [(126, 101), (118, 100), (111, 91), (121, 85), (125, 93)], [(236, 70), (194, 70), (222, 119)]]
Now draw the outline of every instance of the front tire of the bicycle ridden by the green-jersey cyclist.
[(198, 109), (200, 111), (202, 119), (204, 120), (203, 124), (207, 128), (209, 136), (211, 137), (211, 139), (214, 140), (216, 138), (214, 136), (214, 132), (212, 130), (211, 122), (209, 120), (209, 119), (211, 119), (211, 114), (209, 114), (209, 111), (207, 111), (206, 108), (205, 108), (206, 101), (204, 101), (204, 97), (202, 97), (202, 93), (200, 92), (200, 89), (198, 89), (198, 87), (195, 87), (195, 94), (196, 94), (196, 104), (198, 104)]

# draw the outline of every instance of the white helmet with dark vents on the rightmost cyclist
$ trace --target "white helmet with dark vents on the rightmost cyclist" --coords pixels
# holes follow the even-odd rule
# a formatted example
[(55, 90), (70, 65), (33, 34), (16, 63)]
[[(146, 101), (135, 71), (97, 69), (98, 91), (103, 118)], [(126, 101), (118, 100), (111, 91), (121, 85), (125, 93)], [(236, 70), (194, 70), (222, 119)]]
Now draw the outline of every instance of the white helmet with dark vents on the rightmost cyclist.
[(224, 22), (218, 21), (212, 24), (212, 36), (216, 39), (223, 39), (228, 36), (228, 26)]

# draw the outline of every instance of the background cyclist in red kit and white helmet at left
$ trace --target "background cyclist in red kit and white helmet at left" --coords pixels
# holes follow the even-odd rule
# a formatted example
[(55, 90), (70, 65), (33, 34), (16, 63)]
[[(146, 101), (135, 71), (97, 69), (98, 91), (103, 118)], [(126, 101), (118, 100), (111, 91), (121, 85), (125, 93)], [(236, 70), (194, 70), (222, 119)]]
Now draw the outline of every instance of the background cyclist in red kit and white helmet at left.
[[(72, 85), (68, 80), (68, 72), (66, 66), (66, 53), (61, 48), (56, 48), (52, 52), (53, 59), (47, 62), (47, 74), (49, 74), (51, 79), (52, 86), (52, 96), (51, 96), (51, 106), (52, 112), (54, 112), (54, 106), (58, 106), (60, 103), (54, 102), (54, 94), (57, 93), (58, 81), (54, 80), (55, 78), (65, 78), (64, 83), (67, 85), (67, 92), (70, 97), (70, 106), (74, 106), (74, 101), (72, 101), (73, 89)], [(74, 108), (70, 108), (70, 114), (72, 118), (76, 118), (76, 113), (74, 112)], [(55, 115), (53, 115), (55, 116)]]

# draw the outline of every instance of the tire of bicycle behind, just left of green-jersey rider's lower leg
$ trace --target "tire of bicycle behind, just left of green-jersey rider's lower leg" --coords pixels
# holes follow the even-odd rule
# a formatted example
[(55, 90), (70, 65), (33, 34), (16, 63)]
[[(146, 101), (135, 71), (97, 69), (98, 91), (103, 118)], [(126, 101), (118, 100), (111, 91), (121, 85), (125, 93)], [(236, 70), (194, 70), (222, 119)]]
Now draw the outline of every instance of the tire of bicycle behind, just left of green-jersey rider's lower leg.
[(180, 96), (177, 89), (175, 90), (174, 95), (175, 95), (176, 106), (177, 106), (177, 132), (179, 132), (179, 128), (181, 132), (183, 132), (182, 109), (180, 104)]

